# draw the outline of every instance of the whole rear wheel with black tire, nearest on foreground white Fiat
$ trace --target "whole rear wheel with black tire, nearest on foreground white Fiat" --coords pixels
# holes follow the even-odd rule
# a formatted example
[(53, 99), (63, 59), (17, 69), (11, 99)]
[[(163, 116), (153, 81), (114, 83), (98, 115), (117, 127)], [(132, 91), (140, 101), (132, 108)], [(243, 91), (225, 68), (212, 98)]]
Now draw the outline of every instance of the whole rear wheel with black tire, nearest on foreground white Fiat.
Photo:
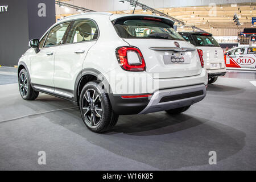
[(82, 120), (93, 132), (110, 130), (118, 121), (112, 110), (108, 95), (98, 81), (90, 81), (82, 88), (79, 100)]

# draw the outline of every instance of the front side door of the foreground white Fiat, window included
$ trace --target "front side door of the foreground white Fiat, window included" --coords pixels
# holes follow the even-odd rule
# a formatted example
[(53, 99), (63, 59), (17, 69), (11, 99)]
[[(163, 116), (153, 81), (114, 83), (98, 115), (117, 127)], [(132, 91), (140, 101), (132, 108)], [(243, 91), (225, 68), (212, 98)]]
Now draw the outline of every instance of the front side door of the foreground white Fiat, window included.
[(41, 40), (40, 51), (31, 56), (31, 81), (35, 88), (53, 92), (54, 57), (69, 22), (53, 27)]

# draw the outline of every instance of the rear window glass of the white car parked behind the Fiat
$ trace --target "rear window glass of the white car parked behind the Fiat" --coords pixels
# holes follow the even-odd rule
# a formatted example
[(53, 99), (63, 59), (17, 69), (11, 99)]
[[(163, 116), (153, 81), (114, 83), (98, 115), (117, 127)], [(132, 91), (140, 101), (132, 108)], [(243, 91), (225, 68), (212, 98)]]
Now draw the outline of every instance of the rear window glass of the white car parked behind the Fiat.
[(193, 35), (195, 46), (220, 47), (217, 41), (210, 35)]

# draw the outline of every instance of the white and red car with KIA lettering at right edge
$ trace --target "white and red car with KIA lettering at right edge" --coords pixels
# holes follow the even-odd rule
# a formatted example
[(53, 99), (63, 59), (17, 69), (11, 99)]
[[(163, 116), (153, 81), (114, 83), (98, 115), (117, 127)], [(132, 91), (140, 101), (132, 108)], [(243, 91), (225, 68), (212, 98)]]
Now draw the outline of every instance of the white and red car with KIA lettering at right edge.
[(225, 53), (226, 67), (256, 68), (256, 47), (235, 47)]

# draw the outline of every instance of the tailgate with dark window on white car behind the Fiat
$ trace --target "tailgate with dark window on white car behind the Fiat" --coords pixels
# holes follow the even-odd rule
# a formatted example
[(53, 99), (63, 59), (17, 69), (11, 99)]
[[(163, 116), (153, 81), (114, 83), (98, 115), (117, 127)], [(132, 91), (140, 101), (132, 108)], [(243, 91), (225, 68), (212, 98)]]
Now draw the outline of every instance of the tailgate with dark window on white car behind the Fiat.
[(225, 67), (224, 52), (211, 34), (192, 34), (192, 38), (195, 41), (195, 46), (204, 53), (203, 59), (206, 69), (220, 69)]

